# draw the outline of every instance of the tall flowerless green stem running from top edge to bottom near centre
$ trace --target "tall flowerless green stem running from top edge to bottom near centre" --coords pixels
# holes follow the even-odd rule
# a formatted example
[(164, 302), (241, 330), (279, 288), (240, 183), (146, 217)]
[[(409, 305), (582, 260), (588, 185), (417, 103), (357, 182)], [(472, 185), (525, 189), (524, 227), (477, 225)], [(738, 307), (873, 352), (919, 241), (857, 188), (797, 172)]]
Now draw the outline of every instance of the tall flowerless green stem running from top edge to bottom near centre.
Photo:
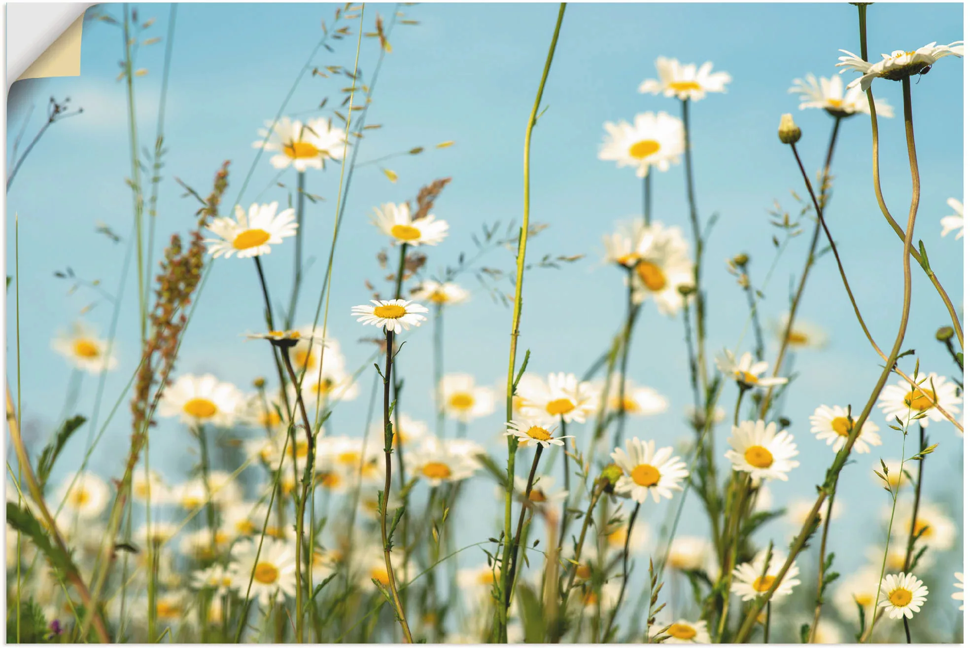
[[(559, 42), (559, 31), (563, 26), (563, 16), (566, 14), (566, 3), (560, 3), (559, 15), (556, 17), (556, 28), (553, 31), (552, 42), (549, 44), (549, 52), (546, 54), (545, 67), (542, 69), (542, 77), (539, 80), (539, 87), (535, 93), (533, 111), (529, 115), (529, 123), (526, 125), (526, 142), (523, 146), (523, 208), (522, 208), (522, 227), (519, 230), (519, 245), (516, 251), (515, 268), (515, 299), (512, 307), (512, 333), (508, 349), (508, 376), (505, 387), (505, 420), (512, 420), (512, 397), (514, 396), (515, 381), (515, 357), (516, 347), (519, 339), (519, 322), (522, 318), (522, 283), (526, 270), (526, 242), (529, 239), (529, 199), (530, 199), (530, 156), (532, 153), (533, 127), (539, 112), (539, 104), (542, 101), (542, 92), (545, 89), (546, 79), (549, 77), (549, 69), (552, 67), (553, 55), (556, 53), (556, 44)], [(506, 467), (505, 484), (505, 515), (504, 515), (504, 547), (501, 557), (501, 588), (508, 582), (508, 567), (511, 557), (512, 546), (509, 538), (512, 535), (512, 493), (515, 490), (515, 450), (518, 441), (515, 437), (508, 439), (508, 462)], [(498, 623), (495, 624), (493, 638), (497, 641), (506, 640), (507, 613), (505, 606), (506, 593), (501, 592), (501, 604), (498, 610)]]

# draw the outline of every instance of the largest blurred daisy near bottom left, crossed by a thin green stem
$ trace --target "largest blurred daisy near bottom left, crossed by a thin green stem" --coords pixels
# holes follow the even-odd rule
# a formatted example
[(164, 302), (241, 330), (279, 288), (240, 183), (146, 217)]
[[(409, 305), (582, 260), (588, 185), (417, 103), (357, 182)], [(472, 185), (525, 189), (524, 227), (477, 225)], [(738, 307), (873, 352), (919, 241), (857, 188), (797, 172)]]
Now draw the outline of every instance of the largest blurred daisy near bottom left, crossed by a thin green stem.
[(229, 568), (233, 588), (240, 597), (245, 599), (246, 590), (249, 589), (249, 598), (258, 599), (265, 607), (272, 601), (296, 596), (297, 565), (293, 545), (283, 540), (264, 539), (257, 557), (258, 548), (258, 543), (250, 539), (242, 540), (233, 547)]

